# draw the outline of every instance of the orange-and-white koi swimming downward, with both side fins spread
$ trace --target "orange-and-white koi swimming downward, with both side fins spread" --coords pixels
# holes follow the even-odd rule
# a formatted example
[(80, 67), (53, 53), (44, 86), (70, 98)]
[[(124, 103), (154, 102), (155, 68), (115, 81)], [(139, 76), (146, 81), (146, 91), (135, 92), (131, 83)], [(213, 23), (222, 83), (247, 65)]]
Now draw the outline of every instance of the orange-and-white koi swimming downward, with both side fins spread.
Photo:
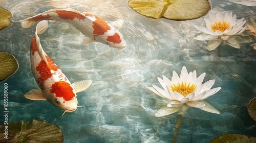
[(87, 89), (92, 81), (83, 80), (71, 84), (59, 67), (47, 56), (37, 35), (45, 32), (47, 28), (48, 21), (40, 21), (30, 45), (31, 70), (41, 90), (32, 89), (25, 94), (25, 97), (30, 100), (47, 100), (64, 110), (64, 113), (73, 112), (79, 107), (76, 93)]

